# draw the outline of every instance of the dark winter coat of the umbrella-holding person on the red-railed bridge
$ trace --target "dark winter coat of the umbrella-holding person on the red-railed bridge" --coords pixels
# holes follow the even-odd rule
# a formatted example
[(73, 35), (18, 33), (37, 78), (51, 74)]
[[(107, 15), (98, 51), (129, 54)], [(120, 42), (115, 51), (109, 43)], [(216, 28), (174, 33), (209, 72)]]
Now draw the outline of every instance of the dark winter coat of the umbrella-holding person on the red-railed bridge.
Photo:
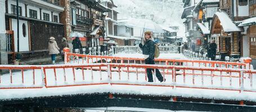
[(155, 58), (155, 42), (153, 40), (147, 40), (141, 49), (142, 54), (149, 55), (150, 59)]

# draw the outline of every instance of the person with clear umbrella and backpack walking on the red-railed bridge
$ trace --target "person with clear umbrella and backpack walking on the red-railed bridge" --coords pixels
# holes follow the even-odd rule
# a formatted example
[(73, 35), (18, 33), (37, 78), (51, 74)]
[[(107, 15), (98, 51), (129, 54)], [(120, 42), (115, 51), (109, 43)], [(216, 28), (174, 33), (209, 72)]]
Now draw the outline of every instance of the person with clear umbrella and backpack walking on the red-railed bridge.
[[(155, 43), (154, 43), (154, 39), (152, 38), (152, 33), (151, 31), (146, 31), (145, 33), (145, 37), (142, 40), (144, 45), (140, 44), (140, 48), (142, 49), (142, 54), (144, 55), (145, 58), (145, 63), (146, 64), (155, 64)], [(147, 78), (149, 79), (148, 82), (154, 82), (153, 81), (153, 77), (152, 77), (152, 71), (154, 71), (153, 68), (147, 68)], [(159, 69), (155, 69), (156, 72), (156, 77), (158, 78), (158, 80), (160, 82), (164, 82), (165, 79), (163, 78), (163, 76), (161, 75)]]

